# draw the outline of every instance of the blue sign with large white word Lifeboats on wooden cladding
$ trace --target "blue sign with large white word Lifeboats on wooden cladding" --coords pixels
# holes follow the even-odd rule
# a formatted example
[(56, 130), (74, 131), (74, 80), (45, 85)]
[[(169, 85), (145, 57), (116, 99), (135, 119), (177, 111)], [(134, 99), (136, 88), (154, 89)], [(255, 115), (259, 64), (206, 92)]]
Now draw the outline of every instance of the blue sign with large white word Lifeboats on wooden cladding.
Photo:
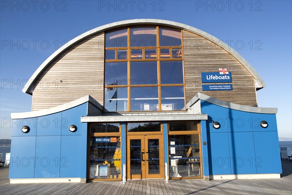
[(232, 82), (231, 73), (220, 74), (219, 72), (201, 73), (202, 83), (220, 83), (220, 82)]

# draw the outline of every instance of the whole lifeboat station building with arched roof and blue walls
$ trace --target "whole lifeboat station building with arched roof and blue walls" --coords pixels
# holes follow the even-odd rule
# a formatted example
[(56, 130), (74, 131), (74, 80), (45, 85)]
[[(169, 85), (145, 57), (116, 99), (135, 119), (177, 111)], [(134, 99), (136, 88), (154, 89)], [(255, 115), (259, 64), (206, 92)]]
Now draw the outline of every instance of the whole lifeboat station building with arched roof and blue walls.
[(11, 183), (279, 178), (276, 108), (235, 50), (197, 28), (124, 20), (46, 59), (12, 113)]

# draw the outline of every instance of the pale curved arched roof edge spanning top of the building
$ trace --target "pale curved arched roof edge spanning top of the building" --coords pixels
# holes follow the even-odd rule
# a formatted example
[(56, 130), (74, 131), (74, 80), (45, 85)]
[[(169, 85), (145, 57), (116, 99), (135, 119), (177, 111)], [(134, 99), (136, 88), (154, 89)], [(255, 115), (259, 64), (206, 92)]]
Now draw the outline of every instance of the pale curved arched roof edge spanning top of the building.
[(34, 82), (37, 80), (37, 77), (45, 70), (45, 68), (54, 60), (56, 59), (60, 54), (62, 54), (64, 51), (66, 51), (68, 48), (70, 48), (75, 43), (81, 41), (82, 39), (85, 39), (87, 37), (90, 37), (96, 33), (100, 33), (103, 31), (107, 31), (114, 28), (119, 28), (123, 26), (131, 26), (131, 25), (141, 25), (141, 24), (152, 24), (152, 25), (163, 25), (178, 29), (183, 29), (192, 33), (195, 33), (197, 35), (200, 35), (201, 37), (204, 37), (214, 43), (219, 43), (218, 45), (223, 48), (225, 51), (227, 51), (229, 54), (231, 54), (234, 58), (236, 58), (245, 68), (252, 74), (252, 76), (257, 80), (261, 82), (257, 82), (256, 88), (261, 89), (266, 86), (266, 83), (264, 80), (259, 76), (259, 74), (256, 72), (256, 70), (241, 56), (239, 55), (234, 49), (229, 47), (227, 44), (225, 44), (220, 39), (217, 39), (216, 37), (201, 31), (200, 29), (174, 22), (169, 20), (156, 20), (156, 19), (136, 19), (136, 20), (123, 20), (123, 21), (117, 21), (110, 24), (106, 24), (97, 28), (94, 28), (90, 31), (87, 31), (78, 37), (70, 40), (68, 43), (66, 43), (64, 46), (60, 47), (58, 50), (56, 50), (48, 59), (46, 59), (36, 70), (36, 72), (31, 76), (31, 78), (26, 83), (26, 87), (23, 88), (22, 92), (32, 94), (32, 86)]

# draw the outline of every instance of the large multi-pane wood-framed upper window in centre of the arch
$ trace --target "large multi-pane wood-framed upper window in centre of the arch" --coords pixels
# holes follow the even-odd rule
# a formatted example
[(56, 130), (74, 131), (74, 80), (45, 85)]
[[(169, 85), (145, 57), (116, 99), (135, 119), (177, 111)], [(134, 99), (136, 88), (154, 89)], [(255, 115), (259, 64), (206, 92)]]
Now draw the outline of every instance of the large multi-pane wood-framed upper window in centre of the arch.
[(185, 109), (181, 30), (128, 27), (105, 39), (105, 111)]

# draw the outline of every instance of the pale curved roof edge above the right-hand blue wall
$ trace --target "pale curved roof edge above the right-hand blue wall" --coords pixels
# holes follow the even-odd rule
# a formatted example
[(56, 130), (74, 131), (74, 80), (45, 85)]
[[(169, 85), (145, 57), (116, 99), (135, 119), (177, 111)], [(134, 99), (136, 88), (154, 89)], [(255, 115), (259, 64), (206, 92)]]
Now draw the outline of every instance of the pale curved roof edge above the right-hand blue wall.
[(196, 94), (194, 98), (192, 98), (187, 104), (187, 109), (190, 108), (194, 103), (196, 103), (199, 100), (204, 100), (212, 104), (216, 104), (225, 108), (230, 108), (234, 110), (244, 111), (244, 112), (250, 112), (250, 113), (261, 113), (261, 114), (277, 114), (278, 109), (277, 108), (260, 108), (260, 107), (253, 107), (253, 106), (244, 106), (239, 105), (227, 101), (222, 101), (217, 98), (212, 98), (210, 96), (204, 95), (202, 93)]

